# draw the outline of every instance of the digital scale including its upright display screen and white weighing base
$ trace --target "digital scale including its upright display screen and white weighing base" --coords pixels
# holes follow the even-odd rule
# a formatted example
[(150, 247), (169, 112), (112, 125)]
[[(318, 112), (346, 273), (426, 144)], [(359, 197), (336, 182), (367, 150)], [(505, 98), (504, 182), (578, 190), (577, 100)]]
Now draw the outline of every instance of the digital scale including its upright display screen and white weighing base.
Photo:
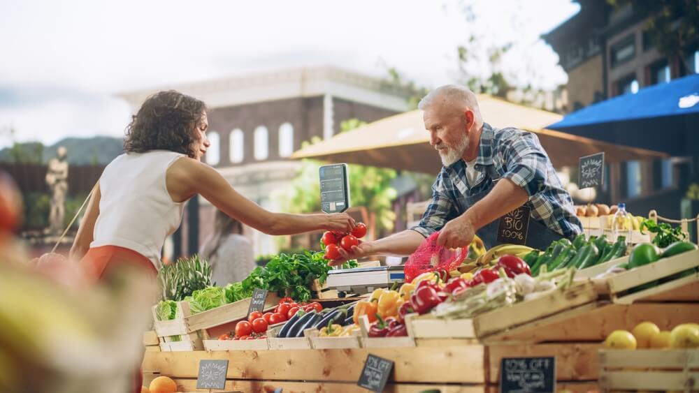
[[(349, 209), (349, 169), (347, 164), (323, 165), (320, 175), (320, 207), (325, 213), (341, 213)], [(376, 288), (389, 288), (405, 281), (403, 266), (356, 267), (328, 272), (326, 285), (340, 293), (365, 294)]]

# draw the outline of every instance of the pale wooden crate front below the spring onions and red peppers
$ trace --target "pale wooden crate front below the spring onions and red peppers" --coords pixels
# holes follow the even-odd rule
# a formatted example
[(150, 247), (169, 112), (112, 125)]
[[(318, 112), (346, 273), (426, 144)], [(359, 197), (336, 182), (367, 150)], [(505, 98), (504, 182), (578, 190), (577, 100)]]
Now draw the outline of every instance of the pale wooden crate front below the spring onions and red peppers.
[(412, 331), (417, 339), (484, 339), (491, 334), (513, 329), (519, 325), (567, 311), (597, 299), (590, 281), (579, 281), (566, 290), (552, 290), (526, 302), (502, 307), (474, 318), (442, 319), (426, 314), (412, 319)]

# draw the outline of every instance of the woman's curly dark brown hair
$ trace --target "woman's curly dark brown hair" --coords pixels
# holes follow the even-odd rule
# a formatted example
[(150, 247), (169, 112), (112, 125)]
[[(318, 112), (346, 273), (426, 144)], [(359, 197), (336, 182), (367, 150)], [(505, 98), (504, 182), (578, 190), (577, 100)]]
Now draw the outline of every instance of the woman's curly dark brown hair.
[(124, 150), (170, 150), (194, 158), (194, 128), (206, 104), (179, 91), (159, 91), (146, 98), (127, 126)]

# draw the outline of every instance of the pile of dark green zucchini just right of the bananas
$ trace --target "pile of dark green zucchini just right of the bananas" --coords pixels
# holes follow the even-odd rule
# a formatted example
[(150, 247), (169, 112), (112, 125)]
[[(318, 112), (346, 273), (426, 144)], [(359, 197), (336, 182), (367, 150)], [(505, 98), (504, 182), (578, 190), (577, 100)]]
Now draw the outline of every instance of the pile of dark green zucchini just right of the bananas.
[(614, 244), (607, 241), (607, 235), (600, 237), (577, 235), (570, 242), (561, 239), (553, 242), (544, 253), (532, 252), (524, 256), (524, 261), (531, 265), (532, 276), (557, 269), (586, 269), (621, 258), (626, 255), (626, 238), (619, 236)]

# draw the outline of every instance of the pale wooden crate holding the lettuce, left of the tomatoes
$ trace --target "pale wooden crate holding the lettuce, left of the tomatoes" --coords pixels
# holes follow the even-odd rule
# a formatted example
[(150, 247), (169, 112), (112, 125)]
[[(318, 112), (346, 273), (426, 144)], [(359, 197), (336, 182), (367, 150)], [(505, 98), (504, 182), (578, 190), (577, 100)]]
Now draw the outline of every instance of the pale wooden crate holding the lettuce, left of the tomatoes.
[[(276, 306), (279, 300), (275, 293), (269, 293), (265, 300), (265, 309)], [(245, 318), (250, 307), (250, 298), (196, 314), (192, 314), (189, 309), (189, 302), (178, 302), (177, 305), (177, 316), (174, 320), (158, 320), (157, 306), (152, 307), (153, 325), (159, 337), (160, 349), (163, 351), (203, 350), (202, 340), (209, 339), (207, 329)]]

